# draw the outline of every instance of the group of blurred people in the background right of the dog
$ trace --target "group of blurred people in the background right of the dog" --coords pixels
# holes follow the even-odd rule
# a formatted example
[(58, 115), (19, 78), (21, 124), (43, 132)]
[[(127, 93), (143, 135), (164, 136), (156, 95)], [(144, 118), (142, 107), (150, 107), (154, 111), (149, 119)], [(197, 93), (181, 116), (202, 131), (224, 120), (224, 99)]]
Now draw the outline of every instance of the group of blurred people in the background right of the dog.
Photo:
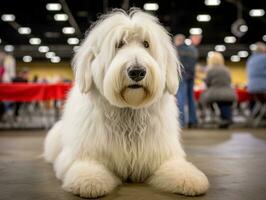
[[(195, 38), (193, 40), (193, 36), (191, 36), (192, 44), (186, 44), (185, 39), (182, 34), (174, 37), (177, 55), (182, 65), (182, 80), (176, 96), (180, 110), (180, 125), (193, 128), (198, 126), (194, 81), (195, 67), (199, 57), (197, 45), (200, 43), (201, 37), (198, 36), (196, 40)], [(201, 110), (217, 106), (220, 113), (219, 127), (228, 128), (233, 122), (232, 106), (237, 101), (230, 71), (225, 65), (225, 59), (220, 52), (210, 52), (206, 63), (205, 90), (201, 94), (197, 106)], [(248, 76), (247, 91), (253, 97), (250, 102), (252, 110), (254, 97), (259, 97), (262, 100), (266, 99), (266, 45), (264, 43), (256, 43), (256, 48), (247, 60), (246, 72)], [(186, 107), (187, 109), (185, 109)]]

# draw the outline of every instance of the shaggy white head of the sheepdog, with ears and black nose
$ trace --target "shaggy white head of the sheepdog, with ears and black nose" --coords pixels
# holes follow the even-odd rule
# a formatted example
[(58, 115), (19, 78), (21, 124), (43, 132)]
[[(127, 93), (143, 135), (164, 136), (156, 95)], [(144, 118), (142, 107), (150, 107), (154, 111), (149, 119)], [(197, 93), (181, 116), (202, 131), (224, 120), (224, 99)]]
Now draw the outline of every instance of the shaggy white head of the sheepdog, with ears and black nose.
[(73, 66), (81, 92), (92, 83), (112, 104), (141, 108), (175, 94), (180, 67), (167, 31), (138, 9), (103, 16), (78, 49)]

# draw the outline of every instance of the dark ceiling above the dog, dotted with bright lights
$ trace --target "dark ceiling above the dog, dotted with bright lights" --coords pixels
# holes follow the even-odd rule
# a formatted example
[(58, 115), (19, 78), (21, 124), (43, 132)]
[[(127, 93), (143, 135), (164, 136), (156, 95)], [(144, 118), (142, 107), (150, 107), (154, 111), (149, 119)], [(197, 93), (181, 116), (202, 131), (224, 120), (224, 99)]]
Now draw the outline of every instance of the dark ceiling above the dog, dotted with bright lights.
[[(73, 23), (68, 21), (59, 22), (54, 20), (54, 14), (64, 13), (61, 11), (48, 11), (47, 3), (66, 3), (69, 12), (77, 24), (77, 29), (73, 35), (62, 33), (63, 27), (69, 27)], [(41, 45), (48, 45), (51, 50), (62, 58), (70, 58), (73, 53), (73, 46), (67, 44), (69, 37), (82, 39), (90, 24), (97, 19), (105, 10), (121, 8), (128, 3), (129, 6), (143, 8), (144, 3), (151, 1), (142, 0), (1, 0), (0, 15), (14, 14), (15, 22), (4, 22), (0, 20), (0, 49), (4, 45), (15, 46), (14, 55), (18, 58), (23, 55), (32, 55), (37, 58), (45, 58), (37, 51), (38, 46), (29, 44), (31, 37), (39, 37)], [(154, 12), (163, 25), (172, 33), (183, 33), (189, 35), (191, 27), (200, 27), (203, 31), (203, 41), (201, 45), (201, 55), (213, 50), (216, 44), (224, 44), (224, 37), (232, 35), (231, 25), (237, 19), (237, 7), (235, 0), (221, 0), (221, 4), (216, 7), (209, 7), (204, 4), (204, 0), (156, 0), (159, 9)], [(263, 17), (250, 17), (249, 11), (253, 8), (266, 9), (264, 0), (242, 0), (243, 19), (248, 26), (247, 33), (237, 38), (235, 44), (227, 44), (226, 55), (230, 56), (234, 51), (248, 49), (249, 45), (262, 40), (266, 34), (266, 15)], [(63, 6), (64, 7), (64, 6)], [(209, 14), (211, 21), (198, 22), (198, 14)], [(30, 35), (18, 33), (19, 26), (31, 28)]]

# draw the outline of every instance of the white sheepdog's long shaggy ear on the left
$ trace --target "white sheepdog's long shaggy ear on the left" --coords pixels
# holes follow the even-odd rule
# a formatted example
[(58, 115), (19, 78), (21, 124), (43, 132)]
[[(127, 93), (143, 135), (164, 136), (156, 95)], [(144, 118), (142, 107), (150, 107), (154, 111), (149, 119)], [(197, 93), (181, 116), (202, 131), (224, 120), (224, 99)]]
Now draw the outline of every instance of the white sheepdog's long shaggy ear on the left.
[(72, 66), (75, 72), (75, 80), (82, 93), (87, 93), (91, 88), (91, 63), (94, 60), (94, 57), (95, 55), (93, 50), (88, 49), (85, 41), (77, 50), (72, 61)]

